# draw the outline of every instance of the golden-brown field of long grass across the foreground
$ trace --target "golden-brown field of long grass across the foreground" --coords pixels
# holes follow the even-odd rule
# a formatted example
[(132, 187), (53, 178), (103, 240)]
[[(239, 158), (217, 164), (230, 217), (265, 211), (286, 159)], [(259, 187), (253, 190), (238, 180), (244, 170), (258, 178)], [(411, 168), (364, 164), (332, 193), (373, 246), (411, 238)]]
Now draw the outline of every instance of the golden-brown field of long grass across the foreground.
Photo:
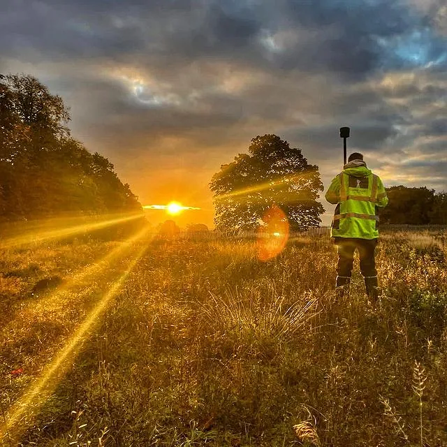
[(3, 249), (0, 445), (447, 446), (446, 250), (382, 235), (372, 307), (328, 237)]

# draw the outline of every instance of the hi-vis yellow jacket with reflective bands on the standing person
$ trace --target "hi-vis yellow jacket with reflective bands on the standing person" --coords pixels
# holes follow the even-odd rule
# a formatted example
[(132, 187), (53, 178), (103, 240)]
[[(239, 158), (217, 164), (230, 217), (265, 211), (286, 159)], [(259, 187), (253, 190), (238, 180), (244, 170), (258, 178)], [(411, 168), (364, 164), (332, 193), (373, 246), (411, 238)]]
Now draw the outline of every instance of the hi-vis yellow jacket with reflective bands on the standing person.
[(343, 172), (332, 180), (325, 198), (337, 204), (330, 230), (332, 237), (379, 237), (377, 208), (385, 207), (388, 197), (381, 179), (364, 161), (346, 163)]

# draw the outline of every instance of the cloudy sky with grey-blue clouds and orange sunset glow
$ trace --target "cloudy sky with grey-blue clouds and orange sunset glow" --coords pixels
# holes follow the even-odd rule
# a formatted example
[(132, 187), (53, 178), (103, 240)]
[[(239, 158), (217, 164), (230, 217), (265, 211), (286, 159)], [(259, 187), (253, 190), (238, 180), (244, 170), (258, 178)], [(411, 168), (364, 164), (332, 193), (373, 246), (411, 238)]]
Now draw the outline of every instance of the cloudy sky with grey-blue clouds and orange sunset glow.
[(445, 0), (0, 2), (0, 73), (59, 94), (143, 205), (203, 208), (180, 224), (212, 226), (212, 175), (265, 133), (325, 189), (351, 126), (386, 186), (447, 190), (446, 69)]

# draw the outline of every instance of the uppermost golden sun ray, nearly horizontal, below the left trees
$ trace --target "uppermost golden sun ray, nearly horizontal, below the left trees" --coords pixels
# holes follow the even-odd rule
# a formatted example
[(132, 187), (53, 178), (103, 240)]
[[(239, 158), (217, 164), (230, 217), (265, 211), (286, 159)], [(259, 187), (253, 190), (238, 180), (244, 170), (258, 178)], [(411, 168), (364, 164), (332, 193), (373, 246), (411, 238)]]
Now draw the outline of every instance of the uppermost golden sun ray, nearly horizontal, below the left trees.
[(143, 214), (141, 213), (124, 214), (124, 216), (120, 215), (120, 217), (112, 217), (112, 218), (108, 217), (107, 219), (105, 220), (103, 219), (101, 221), (92, 220), (87, 223), (76, 224), (62, 228), (54, 228), (50, 230), (48, 230), (47, 228), (39, 229), (39, 227), (37, 226), (31, 228), (25, 233), (21, 233), (18, 236), (6, 237), (5, 239), (1, 240), (0, 248), (12, 249), (15, 247), (19, 247), (21, 245), (38, 244), (50, 240), (60, 240), (64, 239), (64, 237), (70, 237), (82, 233), (89, 233), (90, 231), (94, 230), (101, 230), (109, 226), (129, 222), (135, 219), (140, 219), (142, 217)]

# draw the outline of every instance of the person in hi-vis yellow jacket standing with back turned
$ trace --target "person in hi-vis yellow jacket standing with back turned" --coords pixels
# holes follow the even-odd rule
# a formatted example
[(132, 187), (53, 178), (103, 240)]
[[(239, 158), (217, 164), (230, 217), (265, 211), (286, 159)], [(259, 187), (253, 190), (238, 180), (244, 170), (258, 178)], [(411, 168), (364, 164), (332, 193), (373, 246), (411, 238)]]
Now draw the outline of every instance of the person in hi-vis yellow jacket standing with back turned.
[(336, 290), (338, 295), (349, 291), (354, 252), (358, 250), (360, 270), (366, 293), (372, 301), (379, 295), (374, 251), (379, 238), (378, 209), (388, 204), (388, 197), (379, 176), (373, 174), (354, 152), (335, 177), (325, 198), (335, 207), (330, 230), (338, 251)]

